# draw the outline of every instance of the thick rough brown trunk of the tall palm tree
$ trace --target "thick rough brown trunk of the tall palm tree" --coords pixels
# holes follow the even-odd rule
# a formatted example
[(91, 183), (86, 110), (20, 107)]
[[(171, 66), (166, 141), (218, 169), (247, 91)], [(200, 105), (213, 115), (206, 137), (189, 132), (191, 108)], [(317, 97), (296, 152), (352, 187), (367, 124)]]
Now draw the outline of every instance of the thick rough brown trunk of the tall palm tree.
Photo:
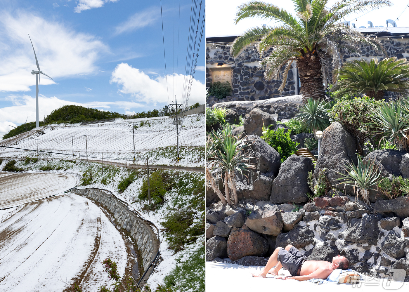
[(300, 75), (301, 94), (303, 102), (307, 99), (324, 99), (324, 81), (321, 77), (321, 63), (318, 56), (298, 58), (298, 72)]

